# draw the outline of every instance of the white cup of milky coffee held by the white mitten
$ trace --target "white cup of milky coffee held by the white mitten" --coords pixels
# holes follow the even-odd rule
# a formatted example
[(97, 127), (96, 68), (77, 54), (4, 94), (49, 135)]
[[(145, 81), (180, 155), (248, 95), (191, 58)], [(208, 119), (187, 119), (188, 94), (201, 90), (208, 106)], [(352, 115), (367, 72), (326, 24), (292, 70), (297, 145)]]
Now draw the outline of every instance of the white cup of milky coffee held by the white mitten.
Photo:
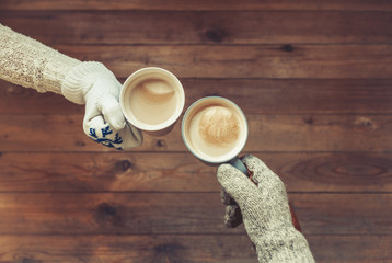
[(185, 93), (170, 71), (148, 67), (135, 71), (124, 82), (119, 104), (126, 121), (152, 136), (163, 136), (181, 116)]

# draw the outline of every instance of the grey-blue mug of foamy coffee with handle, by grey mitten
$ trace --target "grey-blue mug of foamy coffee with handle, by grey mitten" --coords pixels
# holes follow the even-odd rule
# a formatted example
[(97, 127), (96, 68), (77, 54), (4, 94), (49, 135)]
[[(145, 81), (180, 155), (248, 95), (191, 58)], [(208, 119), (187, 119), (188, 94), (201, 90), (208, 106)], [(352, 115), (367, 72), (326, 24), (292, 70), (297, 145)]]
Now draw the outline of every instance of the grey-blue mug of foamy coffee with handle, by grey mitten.
[[(242, 164), (238, 155), (246, 144), (249, 128), (244, 113), (232, 101), (221, 96), (196, 101), (185, 112), (181, 129), (185, 146), (203, 162)], [(239, 169), (246, 170), (243, 165)]]

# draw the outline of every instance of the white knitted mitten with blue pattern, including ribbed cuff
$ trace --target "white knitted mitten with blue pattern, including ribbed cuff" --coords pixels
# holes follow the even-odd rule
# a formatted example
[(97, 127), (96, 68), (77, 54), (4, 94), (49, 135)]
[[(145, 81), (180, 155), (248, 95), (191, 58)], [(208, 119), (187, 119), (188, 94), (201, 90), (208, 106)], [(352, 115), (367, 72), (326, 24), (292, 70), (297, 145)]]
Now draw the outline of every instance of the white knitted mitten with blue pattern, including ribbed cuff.
[(142, 142), (139, 129), (127, 125), (118, 96), (122, 84), (101, 62), (81, 62), (65, 77), (61, 93), (69, 101), (84, 104), (84, 133), (96, 142), (116, 149), (130, 149)]

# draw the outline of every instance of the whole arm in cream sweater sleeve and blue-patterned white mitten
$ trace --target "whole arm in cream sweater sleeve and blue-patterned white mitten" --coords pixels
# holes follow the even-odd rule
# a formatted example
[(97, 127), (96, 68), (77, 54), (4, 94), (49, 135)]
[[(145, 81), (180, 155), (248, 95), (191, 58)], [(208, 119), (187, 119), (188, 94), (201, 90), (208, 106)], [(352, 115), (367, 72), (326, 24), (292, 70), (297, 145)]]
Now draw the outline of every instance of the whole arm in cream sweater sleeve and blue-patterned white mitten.
[(141, 132), (122, 114), (120, 83), (100, 62), (81, 62), (0, 24), (0, 79), (85, 103), (83, 130), (97, 142), (116, 149), (142, 142)]

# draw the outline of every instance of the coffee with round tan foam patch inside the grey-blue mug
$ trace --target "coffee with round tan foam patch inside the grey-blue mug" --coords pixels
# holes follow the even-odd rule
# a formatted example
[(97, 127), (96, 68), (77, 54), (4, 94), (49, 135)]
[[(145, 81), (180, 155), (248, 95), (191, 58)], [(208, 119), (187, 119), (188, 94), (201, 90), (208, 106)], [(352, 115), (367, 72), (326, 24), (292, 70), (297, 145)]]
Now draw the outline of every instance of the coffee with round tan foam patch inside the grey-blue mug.
[(235, 148), (241, 125), (235, 112), (211, 105), (195, 113), (189, 124), (193, 147), (210, 157), (223, 156)]

